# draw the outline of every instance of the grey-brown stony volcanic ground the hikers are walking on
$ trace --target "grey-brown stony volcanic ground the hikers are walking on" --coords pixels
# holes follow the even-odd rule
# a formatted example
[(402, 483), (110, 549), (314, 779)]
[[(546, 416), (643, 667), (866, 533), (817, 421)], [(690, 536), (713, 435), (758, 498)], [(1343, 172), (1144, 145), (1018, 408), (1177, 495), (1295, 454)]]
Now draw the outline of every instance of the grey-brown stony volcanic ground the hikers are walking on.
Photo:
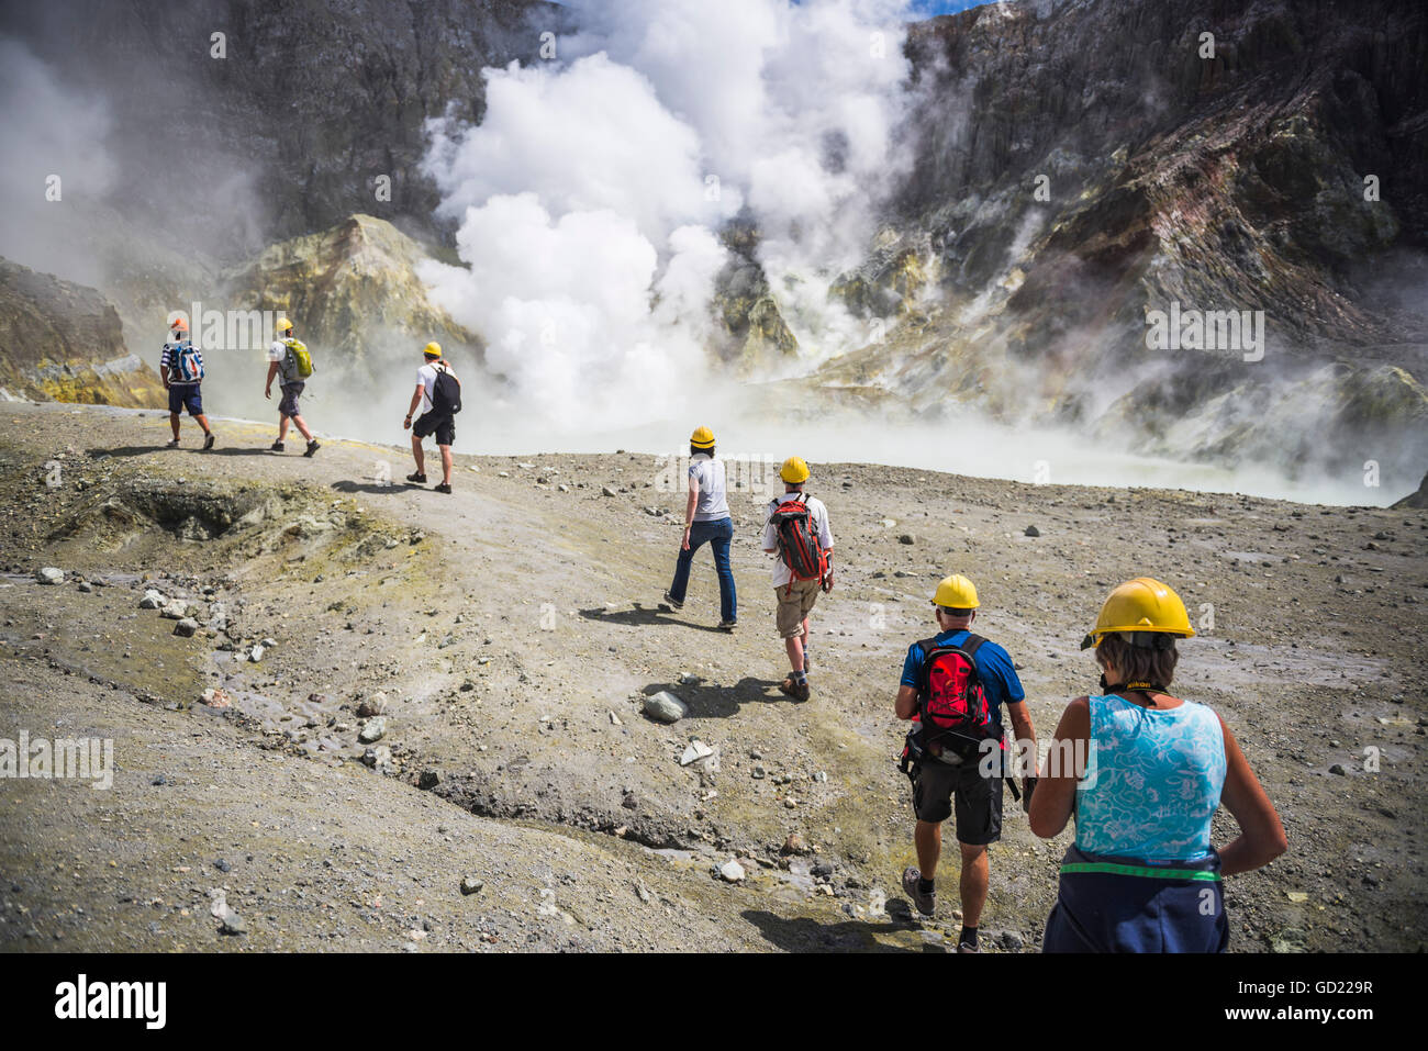
[[(684, 610), (657, 608), (683, 494), (650, 457), (458, 456), (446, 497), (387, 483), (410, 470), (403, 450), (334, 441), (304, 460), (267, 453), (267, 427), (218, 433), (214, 453), (191, 436), (167, 451), (161, 414), (0, 407), (14, 574), (0, 581), (0, 735), (99, 727), (134, 771), (111, 793), (0, 783), (6, 944), (470, 948), (490, 934), (498, 948), (940, 948), (955, 895), (914, 922), (897, 892), (912, 853), (891, 700), (908, 643), (931, 633), (927, 595), (964, 571), (978, 631), (1021, 665), (1041, 737), (1094, 685), (1077, 645), (1110, 585), (1151, 573), (1202, 628), (1212, 613), (1184, 647), (1178, 691), (1225, 715), (1291, 841), (1230, 882), (1232, 947), (1422, 945), (1422, 511), (1022, 486), (787, 450), (814, 460), (838, 567), (814, 613), (814, 698), (797, 705), (774, 688), (761, 498), (731, 494), (740, 630), (727, 635), (704, 553)], [(37, 584), (43, 565), (96, 585)], [(197, 634), (140, 610), (146, 587), (191, 603)], [(230, 707), (200, 703), (213, 687)], [(690, 707), (673, 727), (641, 714), (660, 688)], [(363, 703), (386, 720), (370, 745)], [(691, 738), (715, 754), (681, 765)], [(161, 755), (196, 784), (160, 797), (144, 773)], [(982, 927), (995, 948), (1034, 948), (1070, 833), (1045, 844), (1010, 800), (1007, 814)], [(783, 854), (790, 834), (811, 853)], [(1217, 843), (1230, 835), (1221, 815)], [(238, 907), (248, 932), (221, 937), (207, 907), (180, 898), (217, 885), (207, 853), (240, 845), (261, 880), (230, 894), (254, 902)], [(404, 863), (338, 864), (358, 850)], [(86, 857), (126, 867), (130, 901), (54, 878)], [(715, 874), (734, 857), (741, 885)], [(464, 898), (467, 870), (504, 904)], [(426, 904), (408, 892), (401, 921), (427, 918), (423, 938), (346, 904), (423, 881)], [(941, 882), (955, 884), (954, 864)], [(298, 890), (296, 912), (266, 918)], [(313, 911), (323, 895), (356, 911), (334, 928), (331, 910)]]

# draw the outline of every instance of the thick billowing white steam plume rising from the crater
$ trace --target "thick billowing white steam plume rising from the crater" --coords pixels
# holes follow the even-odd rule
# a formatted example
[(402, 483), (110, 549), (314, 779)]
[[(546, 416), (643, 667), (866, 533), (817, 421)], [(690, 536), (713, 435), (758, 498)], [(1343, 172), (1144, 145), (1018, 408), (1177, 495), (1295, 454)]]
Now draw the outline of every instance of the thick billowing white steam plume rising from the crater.
[(905, 6), (573, 6), (558, 59), (486, 71), (481, 124), (430, 124), (466, 266), (421, 277), (488, 341), (510, 407), (557, 431), (695, 411), (735, 216), (760, 230), (803, 367), (865, 341), (827, 288), (904, 169)]

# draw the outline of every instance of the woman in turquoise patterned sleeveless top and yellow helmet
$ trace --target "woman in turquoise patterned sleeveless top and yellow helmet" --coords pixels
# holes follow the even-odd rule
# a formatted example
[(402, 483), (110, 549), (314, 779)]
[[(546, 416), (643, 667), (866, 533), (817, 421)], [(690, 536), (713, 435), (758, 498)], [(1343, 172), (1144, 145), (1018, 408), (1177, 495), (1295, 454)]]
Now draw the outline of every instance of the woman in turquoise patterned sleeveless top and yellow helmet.
[[(1062, 713), (1030, 811), (1044, 840), (1075, 815), (1044, 952), (1224, 952), (1222, 877), (1288, 847), (1225, 721), (1167, 693), (1175, 640), (1194, 634), (1180, 595), (1137, 577), (1111, 591), (1081, 643), (1095, 647), (1101, 688)], [(1240, 835), (1217, 851), (1221, 803)]]

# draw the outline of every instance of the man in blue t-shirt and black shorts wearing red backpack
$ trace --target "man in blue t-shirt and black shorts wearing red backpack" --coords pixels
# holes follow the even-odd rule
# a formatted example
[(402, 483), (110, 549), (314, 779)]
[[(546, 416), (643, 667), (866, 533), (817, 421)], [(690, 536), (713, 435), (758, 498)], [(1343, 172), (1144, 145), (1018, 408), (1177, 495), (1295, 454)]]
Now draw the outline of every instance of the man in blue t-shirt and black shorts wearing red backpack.
[[(937, 585), (932, 605), (938, 633), (908, 647), (895, 704), (898, 718), (915, 721), (902, 771), (912, 780), (917, 867), (902, 873), (902, 890), (918, 912), (932, 914), (942, 823), (955, 813), (962, 863), (957, 951), (978, 952), (977, 928), (991, 880), (987, 847), (1001, 838), (1002, 781), (1015, 773), (1017, 755), (1034, 761), (1037, 737), (1011, 655), (971, 633), (980, 607), (977, 587), (961, 574), (947, 577)], [(1015, 733), (1011, 747), (1002, 730), (1002, 705)], [(1028, 800), (1032, 788), (1035, 777), (1028, 768), (1022, 781)], [(1012, 795), (1020, 798), (1015, 781)]]

